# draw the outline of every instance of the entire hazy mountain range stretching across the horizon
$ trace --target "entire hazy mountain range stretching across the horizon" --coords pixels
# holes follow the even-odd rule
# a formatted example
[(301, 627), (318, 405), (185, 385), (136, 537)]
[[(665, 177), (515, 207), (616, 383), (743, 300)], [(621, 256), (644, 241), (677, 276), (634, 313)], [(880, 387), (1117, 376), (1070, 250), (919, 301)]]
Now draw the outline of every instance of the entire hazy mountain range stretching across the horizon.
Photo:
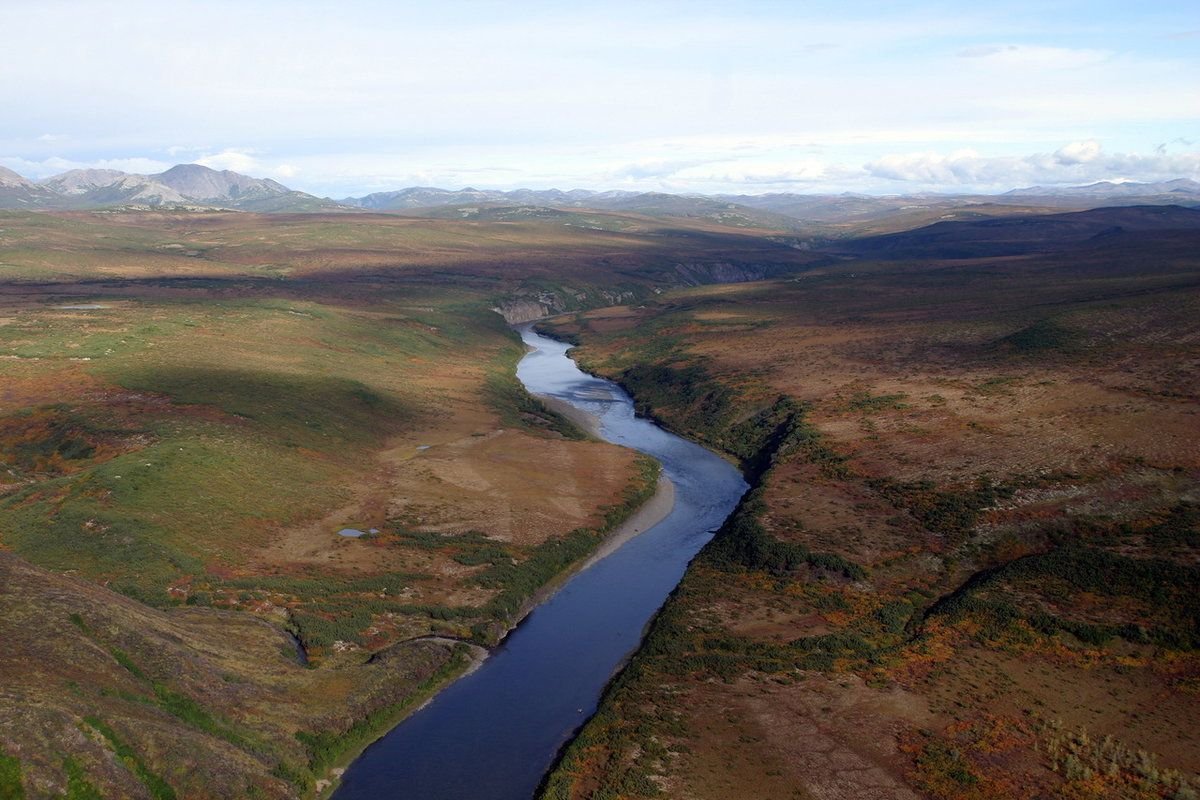
[(595, 210), (644, 217), (697, 218), (739, 228), (887, 233), (881, 221), (934, 222), (1027, 210), (1081, 210), (1100, 205), (1200, 206), (1200, 182), (1102, 181), (1088, 186), (1031, 186), (1003, 194), (670, 194), (590, 190), (444, 190), (409, 187), (341, 200), (290, 190), (200, 164), (176, 164), (154, 175), (115, 169), (72, 169), (31, 181), (0, 167), (0, 209), (101, 209), (204, 206), (258, 212), (374, 211), (414, 216), (515, 219), (559, 218), (563, 210)]

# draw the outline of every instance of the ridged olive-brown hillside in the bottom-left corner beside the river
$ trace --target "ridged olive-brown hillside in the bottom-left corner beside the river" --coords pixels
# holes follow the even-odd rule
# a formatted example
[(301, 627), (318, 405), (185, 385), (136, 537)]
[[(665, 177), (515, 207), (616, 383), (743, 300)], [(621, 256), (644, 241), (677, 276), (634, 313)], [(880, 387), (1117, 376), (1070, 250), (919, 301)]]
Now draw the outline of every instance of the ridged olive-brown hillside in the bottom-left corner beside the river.
[(414, 643), (346, 682), (250, 614), (149, 608), (4, 552), (0, 585), (6, 798), (14, 775), (31, 798), (294, 796), (295, 730), (396, 703), (455, 657)]

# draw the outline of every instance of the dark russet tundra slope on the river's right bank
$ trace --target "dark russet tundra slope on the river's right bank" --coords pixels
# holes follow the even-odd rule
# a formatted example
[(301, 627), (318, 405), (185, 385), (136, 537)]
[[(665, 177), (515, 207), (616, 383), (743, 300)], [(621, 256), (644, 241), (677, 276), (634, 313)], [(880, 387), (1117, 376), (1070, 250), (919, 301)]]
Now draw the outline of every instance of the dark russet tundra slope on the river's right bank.
[(1194, 245), (553, 325), (760, 483), (545, 796), (1195, 796)]

